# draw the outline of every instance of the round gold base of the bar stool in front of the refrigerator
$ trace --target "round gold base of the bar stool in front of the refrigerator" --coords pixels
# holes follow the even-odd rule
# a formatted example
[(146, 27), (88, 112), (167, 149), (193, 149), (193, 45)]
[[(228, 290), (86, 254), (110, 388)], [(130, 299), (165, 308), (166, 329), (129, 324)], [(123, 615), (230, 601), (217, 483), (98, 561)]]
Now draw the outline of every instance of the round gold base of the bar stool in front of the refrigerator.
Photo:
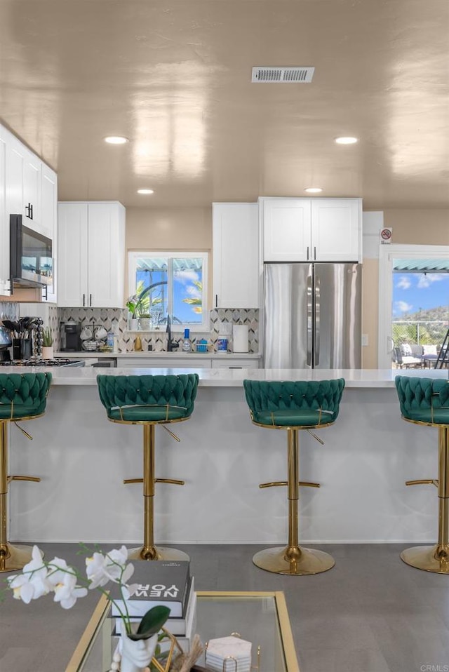
[(287, 546), (278, 546), (276, 549), (264, 549), (253, 556), (253, 563), (267, 572), (274, 574), (290, 574), (292, 576), (308, 576), (327, 572), (335, 565), (335, 560), (329, 553), (314, 549), (298, 548), (297, 558), (286, 559)]

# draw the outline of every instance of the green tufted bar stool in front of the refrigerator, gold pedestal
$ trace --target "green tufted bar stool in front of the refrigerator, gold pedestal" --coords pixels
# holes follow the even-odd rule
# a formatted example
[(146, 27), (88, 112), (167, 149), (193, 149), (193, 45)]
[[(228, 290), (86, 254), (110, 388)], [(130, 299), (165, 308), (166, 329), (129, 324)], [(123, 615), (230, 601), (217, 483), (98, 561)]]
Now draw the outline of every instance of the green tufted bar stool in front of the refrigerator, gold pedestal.
[(319, 574), (335, 565), (329, 553), (303, 549), (298, 542), (297, 504), (299, 485), (319, 488), (319, 483), (299, 480), (298, 431), (328, 427), (337, 419), (344, 389), (344, 379), (319, 381), (244, 380), (246, 401), (254, 424), (265, 429), (285, 429), (288, 438), (288, 481), (262, 483), (260, 488), (286, 485), (288, 488), (288, 545), (264, 549), (253, 557), (262, 570), (276, 574)]

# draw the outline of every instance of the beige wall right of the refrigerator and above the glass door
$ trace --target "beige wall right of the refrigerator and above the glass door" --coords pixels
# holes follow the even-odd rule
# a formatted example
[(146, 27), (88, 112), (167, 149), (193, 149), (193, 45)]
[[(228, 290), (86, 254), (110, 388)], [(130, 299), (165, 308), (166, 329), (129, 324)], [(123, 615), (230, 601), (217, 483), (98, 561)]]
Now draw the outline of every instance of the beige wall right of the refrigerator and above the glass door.
[[(384, 227), (391, 227), (392, 243), (448, 245), (449, 210), (384, 210)], [(363, 260), (362, 332), (368, 347), (362, 349), (363, 368), (377, 368), (379, 262)]]

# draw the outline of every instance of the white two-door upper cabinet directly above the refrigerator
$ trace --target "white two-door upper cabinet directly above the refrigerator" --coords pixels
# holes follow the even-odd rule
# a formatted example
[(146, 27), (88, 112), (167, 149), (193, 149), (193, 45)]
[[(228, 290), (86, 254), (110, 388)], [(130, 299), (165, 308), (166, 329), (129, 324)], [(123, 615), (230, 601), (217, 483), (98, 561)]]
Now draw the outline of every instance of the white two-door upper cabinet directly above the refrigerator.
[(361, 261), (361, 199), (259, 201), (265, 262)]

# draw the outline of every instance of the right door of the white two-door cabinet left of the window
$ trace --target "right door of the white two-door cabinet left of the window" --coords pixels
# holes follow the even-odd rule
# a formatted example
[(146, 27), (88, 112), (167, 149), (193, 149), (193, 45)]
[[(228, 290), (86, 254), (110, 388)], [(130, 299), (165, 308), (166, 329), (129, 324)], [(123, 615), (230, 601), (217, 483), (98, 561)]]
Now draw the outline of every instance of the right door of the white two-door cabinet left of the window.
[(88, 203), (88, 306), (123, 308), (125, 208)]

